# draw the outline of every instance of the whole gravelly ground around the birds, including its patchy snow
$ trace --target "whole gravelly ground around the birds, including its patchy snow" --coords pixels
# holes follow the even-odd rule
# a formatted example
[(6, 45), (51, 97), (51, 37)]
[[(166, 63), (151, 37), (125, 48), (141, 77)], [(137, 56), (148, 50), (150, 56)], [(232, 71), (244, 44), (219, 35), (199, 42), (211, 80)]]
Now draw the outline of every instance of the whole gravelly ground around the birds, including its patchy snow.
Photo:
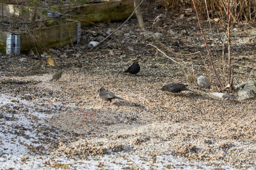
[[(45, 54), (39, 59), (0, 57), (3, 169), (256, 168), (255, 100), (215, 99), (208, 94), (218, 88), (200, 89), (177, 64), (146, 46), (157, 45), (147, 35), (161, 12), (152, 10), (148, 15), (149, 10), (144, 13), (144, 31), (133, 18), (122, 28), (129, 35), (116, 36), (106, 48), (86, 49), (90, 40), (105, 36), (103, 31), (109, 26), (102, 22), (100, 27), (83, 27), (80, 45), (51, 50), (63, 69), (56, 82), (49, 81), (56, 72), (49, 66), (31, 74), (38, 60), (47, 60)], [(209, 34), (207, 23), (203, 24)], [(111, 24), (114, 28), (118, 25)], [(162, 13), (155, 29), (164, 34), (163, 43), (175, 52), (200, 50), (206, 56), (195, 14)], [(248, 24), (236, 25), (232, 31), (234, 83), (255, 81), (256, 31)], [(215, 32), (219, 53), (218, 37)], [(137, 57), (143, 60), (140, 73), (123, 73)], [(195, 76), (205, 73), (198, 54), (173, 59), (193, 67)], [(213, 76), (212, 81), (216, 83)], [(171, 82), (186, 83), (197, 93), (160, 90)], [(102, 101), (100, 87), (124, 101)], [(232, 95), (236, 97), (236, 92)]]

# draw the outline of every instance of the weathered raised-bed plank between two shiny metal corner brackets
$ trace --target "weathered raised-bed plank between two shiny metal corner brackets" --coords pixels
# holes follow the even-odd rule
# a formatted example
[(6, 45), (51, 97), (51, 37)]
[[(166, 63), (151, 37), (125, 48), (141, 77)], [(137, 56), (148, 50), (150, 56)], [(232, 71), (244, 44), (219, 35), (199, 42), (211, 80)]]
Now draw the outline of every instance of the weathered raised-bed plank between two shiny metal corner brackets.
[(20, 52), (42, 52), (46, 48), (56, 48), (76, 43), (77, 21), (34, 29), (29, 33), (20, 32)]

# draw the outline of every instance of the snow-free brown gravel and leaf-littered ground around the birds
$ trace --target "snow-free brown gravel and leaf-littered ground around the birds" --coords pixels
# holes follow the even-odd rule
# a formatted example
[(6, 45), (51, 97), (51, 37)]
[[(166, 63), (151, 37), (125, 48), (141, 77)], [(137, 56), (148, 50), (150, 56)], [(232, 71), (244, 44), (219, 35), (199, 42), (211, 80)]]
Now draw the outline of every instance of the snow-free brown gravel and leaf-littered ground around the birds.
[[(230, 92), (234, 96), (230, 99), (209, 95), (220, 87), (211, 71), (195, 12), (191, 9), (164, 11), (145, 5), (142, 11), (145, 29), (139, 29), (136, 18), (132, 18), (116, 36), (108, 39), (105, 48), (88, 49), (90, 41), (97, 36), (106, 37), (105, 32), (110, 31), (107, 22), (100, 22), (97, 23), (99, 27), (82, 28), (81, 44), (50, 50), (59, 69), (63, 70), (59, 81), (49, 81), (57, 70), (48, 65), (39, 74), (31, 74), (36, 62), (47, 62), (46, 53), (38, 54), (39, 57), (1, 56), (1, 94), (52, 108), (48, 112), (54, 116), (47, 126), (37, 127), (38, 132), (48, 135), (40, 141), (47, 143), (47, 151), (39, 152), (32, 146), (28, 149), (39, 155), (47, 153), (52, 158), (65, 155), (70, 159), (86, 159), (114, 153), (154, 158), (170, 154), (184, 160), (201, 161), (214, 168), (256, 168), (255, 99), (237, 101), (236, 92)], [(174, 56), (151, 36), (152, 23), (158, 15), (161, 17), (154, 25), (154, 32), (164, 35), (161, 43), (175, 53), (200, 51), (209, 68), (206, 75), (211, 76), (214, 84), (211, 89), (200, 89), (188, 69), (185, 74), (178, 64), (150, 46), (157, 46), (189, 67), (195, 77), (207, 73), (198, 53)], [(211, 36), (209, 23), (201, 22), (221, 79), (223, 73), (218, 67), (214, 46), (221, 59), (221, 41), (227, 42), (225, 29), (212, 21)], [(120, 24), (122, 22), (111, 22), (110, 26), (116, 29)], [(234, 85), (246, 80), (256, 81), (256, 31), (253, 27), (255, 24), (240, 23), (231, 29)], [(138, 58), (142, 61), (140, 73), (123, 73)], [(227, 76), (227, 66), (225, 70)], [(197, 93), (172, 94), (160, 90), (172, 82), (188, 84), (189, 89)], [(102, 101), (100, 87), (124, 101)], [(8, 108), (1, 110), (10, 112)]]

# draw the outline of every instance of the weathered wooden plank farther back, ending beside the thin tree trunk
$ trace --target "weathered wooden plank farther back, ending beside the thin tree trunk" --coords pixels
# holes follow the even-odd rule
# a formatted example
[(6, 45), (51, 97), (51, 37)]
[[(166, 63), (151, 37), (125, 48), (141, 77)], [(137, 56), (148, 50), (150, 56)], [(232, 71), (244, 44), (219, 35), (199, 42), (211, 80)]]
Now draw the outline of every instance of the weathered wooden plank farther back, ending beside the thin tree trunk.
[[(69, 9), (70, 10), (70, 9)], [(110, 1), (108, 3), (86, 4), (72, 8), (74, 12), (68, 13), (73, 19), (85, 20), (88, 22), (100, 22), (102, 20), (124, 20), (134, 11), (133, 0)], [(65, 13), (68, 8), (58, 9)], [(88, 25), (81, 22), (81, 25)]]

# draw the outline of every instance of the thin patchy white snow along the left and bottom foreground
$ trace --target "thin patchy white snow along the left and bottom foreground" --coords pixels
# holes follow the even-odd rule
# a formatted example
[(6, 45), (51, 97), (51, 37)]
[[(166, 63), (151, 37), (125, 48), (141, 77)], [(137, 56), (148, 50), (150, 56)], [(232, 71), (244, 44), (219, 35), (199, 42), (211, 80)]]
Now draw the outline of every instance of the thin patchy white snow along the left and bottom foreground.
[[(44, 106), (42, 106), (44, 105)], [(60, 106), (31, 103), (17, 97), (0, 95), (0, 168), (1, 169), (213, 169), (214, 165), (190, 162), (170, 154), (152, 158), (132, 153), (113, 153), (86, 160), (52, 156), (51, 150), (40, 154), (29, 153), (29, 146), (48, 148), (40, 138), (47, 134), (38, 127), (48, 126), (47, 119), (60, 111)], [(56, 136), (58, 140), (58, 136)], [(225, 169), (234, 169), (226, 166)]]

